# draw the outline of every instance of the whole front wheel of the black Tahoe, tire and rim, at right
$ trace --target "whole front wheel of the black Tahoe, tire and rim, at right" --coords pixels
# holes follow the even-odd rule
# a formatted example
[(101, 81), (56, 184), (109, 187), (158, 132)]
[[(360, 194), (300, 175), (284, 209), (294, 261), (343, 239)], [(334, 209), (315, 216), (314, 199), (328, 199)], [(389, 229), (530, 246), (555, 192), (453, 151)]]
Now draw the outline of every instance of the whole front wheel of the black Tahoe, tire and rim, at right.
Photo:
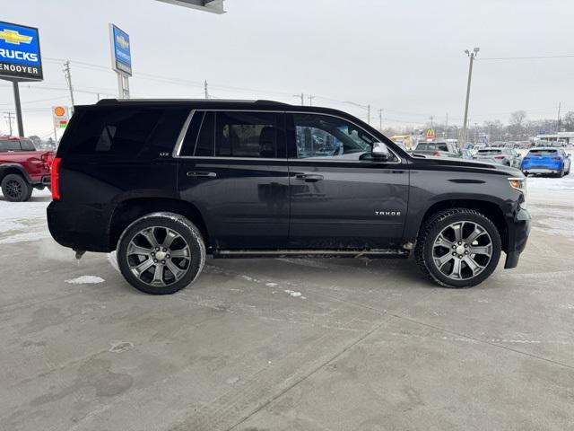
[(491, 275), (501, 248), (498, 229), (488, 217), (452, 208), (424, 224), (415, 257), (422, 272), (440, 286), (470, 287)]

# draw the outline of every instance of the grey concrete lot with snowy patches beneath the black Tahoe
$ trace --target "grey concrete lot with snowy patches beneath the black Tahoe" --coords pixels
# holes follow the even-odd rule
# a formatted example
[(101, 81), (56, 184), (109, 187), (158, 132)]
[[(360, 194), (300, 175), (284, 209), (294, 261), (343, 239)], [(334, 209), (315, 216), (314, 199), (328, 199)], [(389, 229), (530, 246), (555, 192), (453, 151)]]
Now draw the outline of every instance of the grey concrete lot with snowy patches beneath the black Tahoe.
[(571, 429), (574, 175), (529, 181), (519, 267), (465, 290), (411, 260), (208, 259), (142, 295), (48, 237), (46, 193), (0, 200), (0, 428)]

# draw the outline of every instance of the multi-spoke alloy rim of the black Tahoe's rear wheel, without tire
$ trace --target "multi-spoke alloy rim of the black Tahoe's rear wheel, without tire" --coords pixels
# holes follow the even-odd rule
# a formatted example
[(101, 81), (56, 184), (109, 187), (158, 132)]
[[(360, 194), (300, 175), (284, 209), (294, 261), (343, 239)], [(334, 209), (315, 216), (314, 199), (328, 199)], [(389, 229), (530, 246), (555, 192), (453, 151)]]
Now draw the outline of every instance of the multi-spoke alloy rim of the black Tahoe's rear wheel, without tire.
[(135, 233), (126, 250), (130, 270), (149, 286), (168, 286), (187, 274), (191, 251), (186, 240), (167, 227)]

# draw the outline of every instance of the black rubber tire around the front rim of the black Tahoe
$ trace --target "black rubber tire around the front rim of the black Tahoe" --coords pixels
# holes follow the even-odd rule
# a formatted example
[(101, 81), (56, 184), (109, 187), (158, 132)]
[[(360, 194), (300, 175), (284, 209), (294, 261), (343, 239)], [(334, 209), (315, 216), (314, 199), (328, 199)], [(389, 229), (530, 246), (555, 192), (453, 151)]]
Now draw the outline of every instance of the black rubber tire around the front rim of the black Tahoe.
[[(446, 276), (437, 268), (433, 258), (434, 242), (450, 224), (457, 222), (469, 222), (471, 224), (480, 225), (491, 240), (491, 258), (482, 269), (482, 272), (475, 277), (468, 277), (464, 279), (453, 279)], [(491, 220), (473, 209), (468, 208), (450, 208), (431, 216), (422, 225), (419, 238), (417, 240), (414, 256), (418, 266), (422, 269), (423, 274), (430, 278), (434, 283), (445, 287), (471, 287), (481, 284), (486, 278), (490, 277), (498, 262), (500, 260), (500, 253), (502, 250), (500, 242), (500, 233)], [(450, 254), (448, 251), (447, 254)], [(445, 254), (446, 255), (446, 254)], [(466, 265), (466, 264), (465, 264)]]

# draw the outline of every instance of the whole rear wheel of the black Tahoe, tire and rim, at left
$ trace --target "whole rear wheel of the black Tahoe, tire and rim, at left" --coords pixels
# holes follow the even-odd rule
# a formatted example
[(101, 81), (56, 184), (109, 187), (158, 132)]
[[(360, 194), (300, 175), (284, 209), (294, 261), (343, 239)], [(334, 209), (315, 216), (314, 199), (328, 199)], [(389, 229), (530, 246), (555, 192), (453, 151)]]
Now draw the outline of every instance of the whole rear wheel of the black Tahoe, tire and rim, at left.
[(170, 295), (192, 283), (205, 262), (201, 233), (186, 217), (153, 213), (122, 233), (117, 263), (126, 281), (152, 295)]

